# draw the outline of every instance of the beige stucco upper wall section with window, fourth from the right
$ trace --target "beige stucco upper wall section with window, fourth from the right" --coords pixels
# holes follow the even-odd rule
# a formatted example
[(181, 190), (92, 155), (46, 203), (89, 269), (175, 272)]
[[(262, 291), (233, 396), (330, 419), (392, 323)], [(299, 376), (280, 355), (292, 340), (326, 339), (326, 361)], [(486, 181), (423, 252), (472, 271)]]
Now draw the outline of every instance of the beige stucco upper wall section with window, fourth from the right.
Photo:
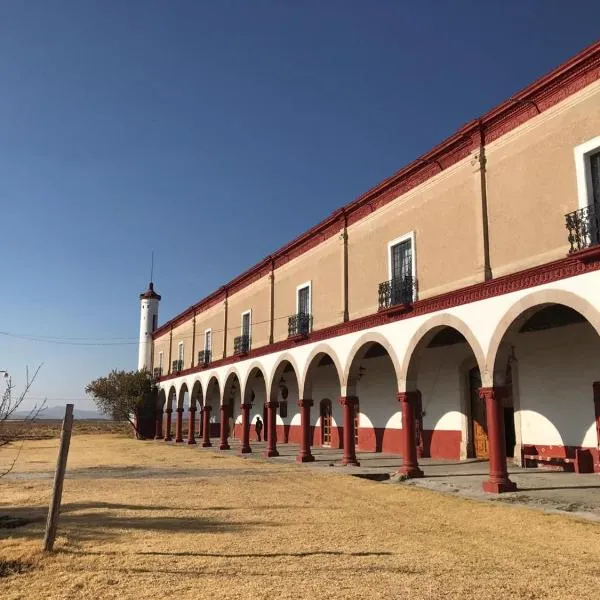
[(227, 323), (227, 356), (233, 354), (233, 340), (241, 335), (242, 313), (252, 310), (252, 348), (269, 343), (271, 287), (265, 276), (229, 296)]

